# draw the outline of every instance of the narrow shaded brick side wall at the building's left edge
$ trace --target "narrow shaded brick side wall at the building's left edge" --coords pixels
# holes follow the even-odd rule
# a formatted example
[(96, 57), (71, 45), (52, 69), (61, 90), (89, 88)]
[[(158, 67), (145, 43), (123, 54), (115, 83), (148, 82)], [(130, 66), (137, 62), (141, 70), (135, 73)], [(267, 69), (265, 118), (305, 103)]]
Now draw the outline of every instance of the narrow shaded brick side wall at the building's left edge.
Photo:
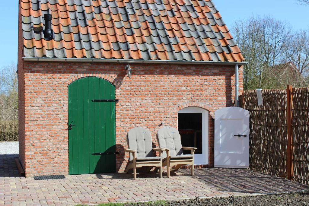
[(23, 70), (23, 32), (21, 29), (21, 14), (19, 7), (19, 20), (18, 20), (18, 61), (17, 61), (17, 70), (18, 70), (18, 112), (19, 112), (19, 121), (18, 121), (18, 136), (19, 136), (19, 158), (20, 162), (25, 168), (25, 102), (24, 102), (24, 87), (25, 87), (25, 78)]

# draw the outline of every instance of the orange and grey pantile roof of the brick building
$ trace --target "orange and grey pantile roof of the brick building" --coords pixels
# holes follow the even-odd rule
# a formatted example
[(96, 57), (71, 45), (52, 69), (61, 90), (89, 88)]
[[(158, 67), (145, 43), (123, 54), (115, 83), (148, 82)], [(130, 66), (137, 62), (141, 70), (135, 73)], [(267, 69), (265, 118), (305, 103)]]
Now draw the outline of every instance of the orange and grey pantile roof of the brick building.
[[(44, 40), (52, 14), (54, 40)], [(24, 57), (244, 61), (211, 0), (21, 0)]]

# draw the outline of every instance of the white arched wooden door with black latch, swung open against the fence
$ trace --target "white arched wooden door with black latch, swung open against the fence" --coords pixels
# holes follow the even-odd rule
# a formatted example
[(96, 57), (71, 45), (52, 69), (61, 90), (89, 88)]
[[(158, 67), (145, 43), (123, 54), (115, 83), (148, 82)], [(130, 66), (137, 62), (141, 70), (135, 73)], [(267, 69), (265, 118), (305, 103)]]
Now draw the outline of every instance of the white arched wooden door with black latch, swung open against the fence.
[(248, 168), (249, 111), (226, 107), (214, 116), (214, 166)]

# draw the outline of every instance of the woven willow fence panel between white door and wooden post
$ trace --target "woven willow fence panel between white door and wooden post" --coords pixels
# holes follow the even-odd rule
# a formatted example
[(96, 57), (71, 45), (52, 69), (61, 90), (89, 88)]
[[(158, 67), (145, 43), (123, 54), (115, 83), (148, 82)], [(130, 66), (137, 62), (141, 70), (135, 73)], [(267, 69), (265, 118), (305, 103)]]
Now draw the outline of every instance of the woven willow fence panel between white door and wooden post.
[(250, 169), (287, 178), (286, 90), (243, 91), (243, 108), (250, 111)]

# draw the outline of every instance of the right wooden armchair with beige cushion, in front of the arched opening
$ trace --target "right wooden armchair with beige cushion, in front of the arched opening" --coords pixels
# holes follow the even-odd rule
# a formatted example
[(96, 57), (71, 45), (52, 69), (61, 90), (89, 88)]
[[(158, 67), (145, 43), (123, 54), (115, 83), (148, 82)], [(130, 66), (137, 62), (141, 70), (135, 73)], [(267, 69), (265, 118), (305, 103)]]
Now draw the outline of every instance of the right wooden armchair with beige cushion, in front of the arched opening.
[[(167, 167), (167, 177), (170, 176), (170, 167), (175, 166), (177, 171), (183, 165), (191, 165), (191, 176), (194, 175), (194, 151), (196, 147), (183, 147), (179, 132), (170, 126), (164, 126), (157, 132), (160, 149), (166, 153), (162, 155), (162, 166)], [(191, 154), (184, 154), (183, 150), (190, 150)]]

